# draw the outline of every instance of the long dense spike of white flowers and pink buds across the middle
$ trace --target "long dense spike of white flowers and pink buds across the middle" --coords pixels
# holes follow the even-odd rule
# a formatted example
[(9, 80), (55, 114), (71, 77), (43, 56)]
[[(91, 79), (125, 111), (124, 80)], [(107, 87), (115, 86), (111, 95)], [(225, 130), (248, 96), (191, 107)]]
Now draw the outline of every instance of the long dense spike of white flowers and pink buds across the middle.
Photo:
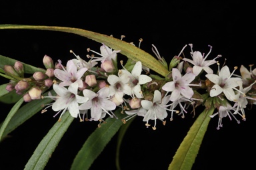
[[(234, 118), (237, 123), (240, 122), (237, 115), (245, 120), (247, 104), (256, 104), (256, 71), (241, 66), (239, 76), (234, 74), (237, 67), (233, 72), (228, 66), (220, 68), (217, 58), (221, 55), (207, 60), (212, 46), (209, 46), (210, 50), (205, 55), (193, 51), (193, 44), (189, 44), (191, 59), (182, 57), (186, 46), (168, 65), (153, 45), (153, 52), (159, 62), (169, 70), (166, 77), (151, 74), (141, 61), (129, 60), (123, 65), (121, 60), (119, 68), (117, 54), (120, 50), (112, 50), (102, 44), (100, 52), (87, 49), (93, 53), (87, 55), (87, 61), (72, 50), (75, 58), (68, 60), (66, 65), (61, 60), (53, 64), (53, 60), (45, 56), (45, 72), (35, 72), (31, 78), (23, 78), (21, 62), (16, 62), (15, 66), (5, 66), (5, 73), (14, 78), (6, 89), (15, 89), (29, 102), (40, 99), (41, 94), (52, 86), (57, 95), (49, 93), (45, 96), (54, 102), (42, 112), (51, 107), (57, 112), (55, 116), (60, 114), (59, 120), (69, 111), (71, 116), (79, 117), (81, 122), (103, 122), (107, 115), (117, 118), (114, 110), (120, 107), (123, 108), (123, 114), (127, 114), (122, 119), (124, 124), (134, 116), (142, 116), (146, 127), (151, 126), (149, 121), (153, 120), (152, 128), (156, 129), (157, 120), (165, 124), (170, 114), (170, 120), (173, 121), (173, 113), (185, 118), (189, 107), (195, 114), (195, 108), (200, 105), (217, 110), (211, 116), (219, 116), (217, 129), (223, 126), (222, 118), (227, 116), (230, 120)], [(217, 72), (210, 68), (213, 64), (217, 64)]]

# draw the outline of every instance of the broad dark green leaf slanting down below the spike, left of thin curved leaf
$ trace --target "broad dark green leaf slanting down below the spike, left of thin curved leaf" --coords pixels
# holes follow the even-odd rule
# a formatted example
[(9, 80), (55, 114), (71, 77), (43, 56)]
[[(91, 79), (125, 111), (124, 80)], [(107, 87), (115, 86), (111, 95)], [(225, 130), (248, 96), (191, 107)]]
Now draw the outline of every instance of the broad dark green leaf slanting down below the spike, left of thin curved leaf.
[(107, 118), (106, 124), (101, 124), (101, 128), (97, 128), (91, 133), (79, 153), (77, 153), (71, 169), (89, 169), (93, 161), (98, 157), (101, 151), (103, 151), (113, 135), (115, 135), (118, 129), (123, 125), (121, 119), (124, 118), (125, 115), (120, 112), (120, 109), (115, 112), (115, 115), (119, 119)]

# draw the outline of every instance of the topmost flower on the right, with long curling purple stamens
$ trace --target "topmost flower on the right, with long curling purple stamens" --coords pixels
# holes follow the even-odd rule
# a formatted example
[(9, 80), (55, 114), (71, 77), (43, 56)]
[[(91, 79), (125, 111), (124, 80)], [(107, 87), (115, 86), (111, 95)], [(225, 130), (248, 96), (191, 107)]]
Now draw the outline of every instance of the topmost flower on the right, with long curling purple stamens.
[(193, 45), (189, 44), (189, 46), (191, 46), (191, 56), (192, 59), (189, 58), (183, 58), (183, 60), (190, 62), (191, 64), (193, 64), (193, 73), (195, 74), (195, 76), (197, 76), (198, 74), (200, 74), (200, 72), (202, 70), (205, 70), (205, 72), (207, 72), (207, 74), (212, 74), (213, 70), (209, 67), (212, 64), (215, 64), (217, 61), (215, 61), (216, 58), (221, 57), (221, 55), (218, 55), (216, 58), (214, 58), (213, 60), (206, 60), (207, 56), (209, 56), (209, 54), (211, 53), (211, 48), (212, 46), (210, 46), (210, 51), (208, 52), (208, 54), (206, 56), (204, 56), (204, 54), (202, 55), (201, 52), (199, 51), (194, 51), (193, 52)]

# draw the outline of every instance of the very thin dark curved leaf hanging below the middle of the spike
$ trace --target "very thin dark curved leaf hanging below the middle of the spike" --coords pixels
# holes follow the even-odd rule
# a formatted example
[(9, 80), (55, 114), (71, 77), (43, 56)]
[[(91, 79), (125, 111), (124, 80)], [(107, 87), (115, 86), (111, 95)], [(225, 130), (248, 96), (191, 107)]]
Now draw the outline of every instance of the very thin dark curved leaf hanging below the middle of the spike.
[(121, 126), (121, 128), (119, 129), (119, 133), (118, 133), (118, 137), (117, 137), (117, 151), (115, 152), (115, 165), (117, 167), (117, 170), (121, 170), (121, 167), (119, 165), (119, 153), (120, 153), (120, 147), (121, 147), (121, 143), (123, 141), (123, 137), (125, 136), (125, 133), (127, 131), (127, 129), (129, 128), (129, 126), (131, 125), (131, 122), (133, 122), (133, 120), (136, 118), (133, 117), (131, 118), (131, 120), (127, 121), (123, 126)]

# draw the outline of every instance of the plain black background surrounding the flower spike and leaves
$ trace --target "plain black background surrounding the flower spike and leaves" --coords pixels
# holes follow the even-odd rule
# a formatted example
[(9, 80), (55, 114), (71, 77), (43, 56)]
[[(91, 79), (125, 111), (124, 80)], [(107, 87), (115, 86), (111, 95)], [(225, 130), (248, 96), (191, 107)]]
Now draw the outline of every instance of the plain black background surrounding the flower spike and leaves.
[[(155, 44), (161, 56), (170, 60), (185, 44), (193, 43), (193, 50), (208, 52), (209, 58), (222, 54), (219, 62), (227, 66), (255, 64), (255, 15), (252, 5), (242, 1), (1, 1), (1, 24), (51, 25), (77, 27), (113, 35), (125, 35), (124, 41), (138, 44), (151, 54)], [(99, 51), (101, 44), (89, 39), (51, 31), (1, 30), (0, 54), (28, 64), (43, 67), (45, 54), (65, 61), (76, 54), (85, 57), (87, 48)], [(189, 55), (189, 48), (185, 50)], [(1, 61), (0, 61), (1, 62)], [(214, 68), (214, 66), (213, 66)], [(217, 68), (217, 67), (216, 67)], [(239, 74), (239, 70), (235, 73)], [(7, 80), (1, 78), (2, 82)], [(1, 120), (11, 106), (1, 104)], [(202, 108), (197, 110), (197, 115)], [(247, 121), (237, 124), (223, 119), (217, 131), (218, 119), (213, 118), (193, 169), (251, 169), (255, 153), (255, 106), (246, 109)], [(176, 116), (160, 122), (157, 130), (146, 129), (142, 118), (131, 124), (121, 146), (121, 169), (167, 169), (179, 143), (187, 134), (195, 118)], [(23, 169), (37, 144), (55, 124), (52, 112), (36, 114), (0, 143), (1, 169)], [(77, 151), (97, 122), (79, 123), (75, 120), (61, 139), (45, 169), (69, 169)], [(113, 137), (91, 169), (115, 169)]]

